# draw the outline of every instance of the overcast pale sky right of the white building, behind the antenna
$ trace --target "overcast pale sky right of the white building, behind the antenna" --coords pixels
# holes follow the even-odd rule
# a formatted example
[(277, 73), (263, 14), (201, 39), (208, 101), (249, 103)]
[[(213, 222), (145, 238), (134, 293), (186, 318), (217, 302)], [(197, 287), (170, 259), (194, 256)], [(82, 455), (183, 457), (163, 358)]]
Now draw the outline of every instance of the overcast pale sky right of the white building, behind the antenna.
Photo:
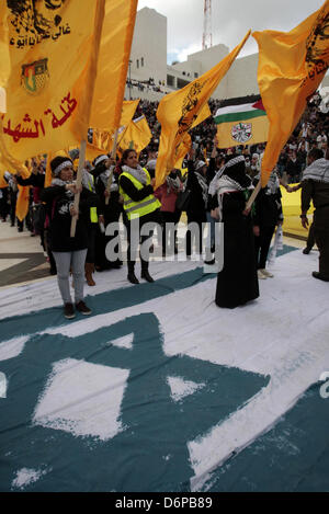
[[(325, 0), (212, 0), (213, 45), (231, 50), (249, 28), (288, 32), (317, 11)], [(148, 7), (167, 16), (168, 64), (186, 60), (202, 49), (203, 0), (138, 0), (138, 10)], [(240, 56), (254, 54), (250, 36)]]

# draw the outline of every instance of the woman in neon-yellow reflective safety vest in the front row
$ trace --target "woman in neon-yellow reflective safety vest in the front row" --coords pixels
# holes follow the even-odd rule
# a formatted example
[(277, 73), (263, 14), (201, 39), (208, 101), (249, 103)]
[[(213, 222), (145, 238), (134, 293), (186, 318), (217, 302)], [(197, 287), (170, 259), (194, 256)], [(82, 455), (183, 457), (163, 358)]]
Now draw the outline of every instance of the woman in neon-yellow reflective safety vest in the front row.
[[(125, 150), (122, 156), (122, 174), (120, 175), (120, 194), (124, 199), (124, 212), (127, 218), (127, 262), (128, 281), (132, 284), (139, 284), (135, 275), (135, 258), (138, 242), (144, 243), (152, 237), (149, 229), (141, 235), (141, 229), (146, 224), (155, 224), (160, 220), (160, 202), (154, 195), (155, 179), (150, 179), (148, 171), (138, 163), (135, 150)], [(147, 252), (140, 252), (141, 278), (147, 282), (155, 282), (148, 272)]]

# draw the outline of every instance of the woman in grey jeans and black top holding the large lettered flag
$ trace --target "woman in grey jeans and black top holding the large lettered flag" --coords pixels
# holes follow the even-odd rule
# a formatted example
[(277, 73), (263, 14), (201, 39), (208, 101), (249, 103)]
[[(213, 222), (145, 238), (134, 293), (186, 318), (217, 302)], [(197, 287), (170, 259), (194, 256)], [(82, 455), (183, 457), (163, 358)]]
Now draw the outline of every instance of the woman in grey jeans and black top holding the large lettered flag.
[[(57, 266), (57, 281), (64, 301), (64, 316), (75, 318), (71, 300), (69, 274), (73, 275), (76, 309), (82, 315), (91, 310), (83, 301), (84, 262), (88, 249), (88, 224), (90, 207), (95, 207), (97, 195), (81, 187), (79, 213), (73, 206), (75, 194), (79, 192), (73, 182), (72, 161), (67, 157), (55, 157), (50, 162), (54, 180), (52, 185), (41, 193), (41, 199), (47, 205), (49, 217), (49, 241)], [(78, 215), (76, 236), (70, 237), (72, 216)]]

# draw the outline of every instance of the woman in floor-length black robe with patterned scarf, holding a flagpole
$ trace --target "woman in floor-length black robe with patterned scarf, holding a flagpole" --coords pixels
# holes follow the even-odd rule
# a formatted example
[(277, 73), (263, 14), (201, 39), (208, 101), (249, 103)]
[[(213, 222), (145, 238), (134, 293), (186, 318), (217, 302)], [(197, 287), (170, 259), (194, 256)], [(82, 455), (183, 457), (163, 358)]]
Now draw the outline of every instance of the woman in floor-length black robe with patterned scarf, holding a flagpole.
[(215, 301), (218, 307), (234, 309), (259, 297), (252, 219), (245, 210), (253, 186), (243, 156), (226, 162), (216, 190), (218, 218), (224, 222), (224, 265)]

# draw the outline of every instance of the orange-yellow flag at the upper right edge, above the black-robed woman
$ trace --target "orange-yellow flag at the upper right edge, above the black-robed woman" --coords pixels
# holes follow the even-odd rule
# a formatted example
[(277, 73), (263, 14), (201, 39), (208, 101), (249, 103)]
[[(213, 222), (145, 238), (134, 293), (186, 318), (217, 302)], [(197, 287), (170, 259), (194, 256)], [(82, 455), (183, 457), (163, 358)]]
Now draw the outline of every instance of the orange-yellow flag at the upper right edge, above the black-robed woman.
[(258, 83), (270, 122), (262, 186), (329, 66), (329, 0), (291, 32), (252, 35), (259, 46)]

